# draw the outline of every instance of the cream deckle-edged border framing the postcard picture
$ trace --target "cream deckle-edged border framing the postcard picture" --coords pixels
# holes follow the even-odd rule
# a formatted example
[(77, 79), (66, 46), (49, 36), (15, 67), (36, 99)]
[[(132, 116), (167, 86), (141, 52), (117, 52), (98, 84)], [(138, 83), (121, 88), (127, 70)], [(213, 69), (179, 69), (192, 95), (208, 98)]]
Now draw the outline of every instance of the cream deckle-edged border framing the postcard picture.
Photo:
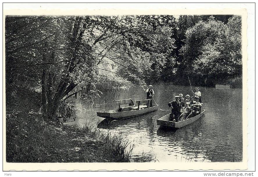
[[(3, 10), (3, 31), (5, 15), (226, 15), (242, 16), (242, 61), (243, 61), (243, 161), (242, 162), (146, 162), (146, 163), (7, 163), (6, 162), (6, 111), (5, 75), (3, 75), (3, 170), (57, 171), (57, 170), (245, 170), (247, 169), (247, 10), (246, 9), (13, 9)], [(5, 35), (3, 33), (3, 41)], [(3, 63), (5, 63), (5, 42), (3, 42)], [(3, 65), (3, 74), (5, 66)]]

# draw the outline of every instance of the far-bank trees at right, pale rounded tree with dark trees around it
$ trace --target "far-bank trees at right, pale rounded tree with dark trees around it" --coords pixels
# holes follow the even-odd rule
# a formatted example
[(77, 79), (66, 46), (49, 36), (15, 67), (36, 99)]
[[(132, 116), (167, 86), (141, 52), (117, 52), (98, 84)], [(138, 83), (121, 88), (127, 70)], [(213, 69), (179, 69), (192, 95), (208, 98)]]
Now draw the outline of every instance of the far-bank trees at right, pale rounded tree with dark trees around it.
[(184, 15), (179, 17), (177, 26), (177, 48), (175, 55), (171, 56), (176, 62), (166, 63), (161, 78), (187, 84), (189, 76), (196, 85), (214, 86), (235, 82), (241, 85), (240, 16)]

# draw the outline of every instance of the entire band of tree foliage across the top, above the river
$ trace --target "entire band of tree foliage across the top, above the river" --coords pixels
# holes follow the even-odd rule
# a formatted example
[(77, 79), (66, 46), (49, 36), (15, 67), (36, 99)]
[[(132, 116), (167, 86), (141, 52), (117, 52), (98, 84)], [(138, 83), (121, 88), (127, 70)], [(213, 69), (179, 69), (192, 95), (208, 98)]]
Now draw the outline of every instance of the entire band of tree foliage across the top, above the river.
[(49, 118), (71, 96), (101, 94), (100, 83), (241, 77), (239, 16), (8, 16), (5, 25), (7, 103), (29, 88)]

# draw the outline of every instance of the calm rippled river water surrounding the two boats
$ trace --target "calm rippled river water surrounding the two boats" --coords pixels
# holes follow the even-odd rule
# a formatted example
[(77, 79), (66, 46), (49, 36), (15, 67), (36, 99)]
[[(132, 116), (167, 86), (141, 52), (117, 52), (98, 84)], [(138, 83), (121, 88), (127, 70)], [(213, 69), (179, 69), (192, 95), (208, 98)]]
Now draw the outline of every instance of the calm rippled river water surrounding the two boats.
[[(160, 109), (169, 110), (167, 103), (175, 95), (191, 94), (190, 87), (178, 85), (153, 85), (155, 101)], [(170, 111), (158, 110), (147, 115), (113, 121), (96, 116), (96, 111), (114, 109), (115, 99), (146, 99), (144, 90), (132, 87), (128, 90), (113, 90), (103, 93), (92, 105), (77, 101), (80, 110), (77, 119), (69, 124), (83, 126), (90, 121), (103, 131), (122, 133), (134, 144), (132, 158), (141, 157), (144, 152), (160, 162), (230, 161), (242, 160), (242, 89), (216, 90), (201, 87), (205, 116), (177, 130), (157, 125), (157, 119)]]

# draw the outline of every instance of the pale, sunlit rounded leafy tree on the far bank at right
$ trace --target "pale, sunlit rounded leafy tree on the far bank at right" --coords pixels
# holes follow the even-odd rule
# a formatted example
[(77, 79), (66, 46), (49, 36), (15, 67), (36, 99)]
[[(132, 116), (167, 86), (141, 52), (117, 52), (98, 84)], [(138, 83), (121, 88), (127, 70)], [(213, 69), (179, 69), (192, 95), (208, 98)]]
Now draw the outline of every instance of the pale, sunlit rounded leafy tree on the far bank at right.
[(186, 36), (186, 44), (180, 50), (181, 68), (188, 67), (181, 71), (193, 74), (196, 84), (214, 85), (241, 73), (240, 17), (231, 17), (227, 25), (210, 17), (189, 28)]

